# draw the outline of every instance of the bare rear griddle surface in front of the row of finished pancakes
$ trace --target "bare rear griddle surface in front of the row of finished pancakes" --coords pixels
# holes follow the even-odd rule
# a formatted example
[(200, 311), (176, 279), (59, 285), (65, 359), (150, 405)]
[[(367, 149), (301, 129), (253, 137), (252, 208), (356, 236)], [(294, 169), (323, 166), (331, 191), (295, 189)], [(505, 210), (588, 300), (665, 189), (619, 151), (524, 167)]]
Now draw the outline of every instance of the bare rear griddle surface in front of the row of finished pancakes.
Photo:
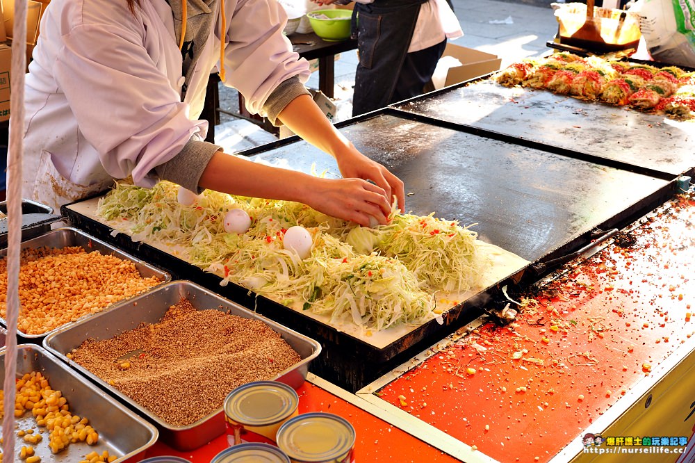
[(692, 173), (695, 122), (487, 79), (395, 108), (666, 172)]

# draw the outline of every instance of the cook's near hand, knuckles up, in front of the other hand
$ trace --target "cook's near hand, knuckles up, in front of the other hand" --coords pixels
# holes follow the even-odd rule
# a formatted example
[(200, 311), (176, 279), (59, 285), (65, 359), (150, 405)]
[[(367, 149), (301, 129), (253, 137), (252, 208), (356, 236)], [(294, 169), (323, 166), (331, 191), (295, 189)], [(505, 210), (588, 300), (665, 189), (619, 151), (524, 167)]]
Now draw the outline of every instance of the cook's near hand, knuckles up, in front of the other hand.
[(384, 189), (363, 179), (325, 179), (312, 177), (307, 185), (306, 197), (302, 199), (313, 209), (329, 216), (350, 220), (365, 227), (370, 226), (370, 217), (379, 224), (386, 224), (390, 211)]

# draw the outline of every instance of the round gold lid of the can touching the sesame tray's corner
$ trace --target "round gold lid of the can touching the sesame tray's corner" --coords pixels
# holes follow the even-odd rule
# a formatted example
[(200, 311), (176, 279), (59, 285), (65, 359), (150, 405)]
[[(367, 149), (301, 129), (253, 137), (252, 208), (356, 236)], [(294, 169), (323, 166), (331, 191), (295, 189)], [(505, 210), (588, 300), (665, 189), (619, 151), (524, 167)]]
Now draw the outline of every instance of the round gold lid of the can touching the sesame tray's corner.
[(294, 389), (277, 381), (243, 384), (224, 399), (224, 414), (243, 425), (278, 423), (293, 414), (299, 404)]

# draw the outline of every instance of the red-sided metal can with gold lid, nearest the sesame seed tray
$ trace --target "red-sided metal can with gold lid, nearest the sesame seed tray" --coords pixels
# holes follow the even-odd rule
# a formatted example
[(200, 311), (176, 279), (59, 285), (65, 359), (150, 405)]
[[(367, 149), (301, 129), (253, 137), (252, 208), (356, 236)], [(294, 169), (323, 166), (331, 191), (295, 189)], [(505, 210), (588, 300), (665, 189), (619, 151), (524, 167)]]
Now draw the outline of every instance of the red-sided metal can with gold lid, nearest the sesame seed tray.
[(299, 400), (294, 389), (277, 381), (256, 381), (237, 387), (224, 399), (229, 443), (241, 444), (244, 431), (275, 441), (280, 425), (297, 416)]

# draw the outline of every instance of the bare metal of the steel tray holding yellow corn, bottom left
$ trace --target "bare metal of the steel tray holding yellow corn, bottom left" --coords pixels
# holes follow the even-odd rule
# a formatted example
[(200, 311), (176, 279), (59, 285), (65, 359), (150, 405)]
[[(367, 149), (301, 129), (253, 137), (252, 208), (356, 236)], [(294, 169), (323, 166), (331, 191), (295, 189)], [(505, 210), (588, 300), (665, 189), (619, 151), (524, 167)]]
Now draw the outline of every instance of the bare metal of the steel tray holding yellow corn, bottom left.
[[(5, 379), (5, 353), (3, 349), (0, 355), (0, 381)], [(92, 450), (99, 454), (108, 450), (109, 455), (118, 456), (116, 462), (125, 462), (129, 458), (139, 461), (145, 456), (145, 449), (157, 440), (158, 432), (152, 424), (100, 391), (49, 352), (40, 346), (17, 346), (17, 378), (32, 371), (40, 371), (45, 375), (51, 388), (63, 392), (70, 405), (70, 412), (85, 416), (99, 433), (99, 442), (95, 446), (86, 443), (70, 444), (66, 450), (54, 455), (48, 446), (46, 428), (38, 427), (31, 412), (25, 412), (17, 420), (17, 424), (19, 429), (34, 428), (43, 434), (42, 441), (31, 445), (42, 462), (79, 462)], [(29, 444), (15, 436), (15, 455), (19, 454), (23, 445)]]

